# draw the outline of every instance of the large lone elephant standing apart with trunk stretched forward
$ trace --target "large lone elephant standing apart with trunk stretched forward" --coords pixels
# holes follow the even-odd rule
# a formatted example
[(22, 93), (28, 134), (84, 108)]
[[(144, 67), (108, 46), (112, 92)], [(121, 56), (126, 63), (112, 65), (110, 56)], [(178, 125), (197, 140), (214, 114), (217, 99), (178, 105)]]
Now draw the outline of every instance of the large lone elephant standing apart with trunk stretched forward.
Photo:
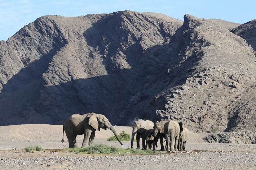
[(63, 135), (62, 143), (64, 142), (64, 130), (69, 140), (69, 148), (77, 147), (76, 136), (84, 135), (82, 148), (85, 148), (86, 143), (89, 140), (89, 146), (93, 143), (96, 130), (109, 128), (115, 134), (119, 143), (123, 145), (120, 141), (118, 134), (116, 133), (114, 127), (111, 125), (106, 116), (96, 113), (88, 113), (84, 115), (72, 114), (63, 124)]

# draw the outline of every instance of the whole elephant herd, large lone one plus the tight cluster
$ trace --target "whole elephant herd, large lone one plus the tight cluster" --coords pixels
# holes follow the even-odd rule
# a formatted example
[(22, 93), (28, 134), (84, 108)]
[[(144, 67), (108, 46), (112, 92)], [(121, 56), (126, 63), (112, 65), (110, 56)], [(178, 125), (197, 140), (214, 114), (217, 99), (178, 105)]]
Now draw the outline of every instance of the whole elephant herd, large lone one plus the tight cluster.
[[(69, 148), (77, 147), (76, 136), (84, 135), (82, 148), (88, 142), (89, 145), (93, 143), (96, 130), (109, 128), (118, 139), (119, 143), (123, 145), (106, 116), (96, 113), (88, 113), (84, 115), (73, 114), (63, 124), (62, 143), (64, 142), (64, 130), (69, 141)], [(137, 149), (140, 149), (140, 138), (142, 139), (142, 149), (146, 150), (153, 146), (153, 150), (157, 146), (160, 138), (161, 151), (177, 151), (186, 150), (186, 142), (189, 135), (187, 128), (184, 128), (182, 122), (178, 123), (173, 120), (162, 120), (153, 123), (150, 120), (134, 121), (132, 125), (132, 140), (131, 148), (133, 148), (133, 140), (136, 135)], [(163, 145), (163, 138), (166, 139), (166, 145)]]

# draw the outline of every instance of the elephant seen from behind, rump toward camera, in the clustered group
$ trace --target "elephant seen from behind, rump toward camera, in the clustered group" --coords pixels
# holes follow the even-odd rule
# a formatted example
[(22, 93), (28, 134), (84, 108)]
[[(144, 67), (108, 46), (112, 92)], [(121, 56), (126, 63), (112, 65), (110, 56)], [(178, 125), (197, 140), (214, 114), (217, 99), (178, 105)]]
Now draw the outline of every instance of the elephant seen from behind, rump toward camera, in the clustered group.
[(164, 124), (164, 135), (166, 138), (166, 151), (177, 151), (178, 140), (180, 135), (180, 125), (178, 121), (170, 120)]

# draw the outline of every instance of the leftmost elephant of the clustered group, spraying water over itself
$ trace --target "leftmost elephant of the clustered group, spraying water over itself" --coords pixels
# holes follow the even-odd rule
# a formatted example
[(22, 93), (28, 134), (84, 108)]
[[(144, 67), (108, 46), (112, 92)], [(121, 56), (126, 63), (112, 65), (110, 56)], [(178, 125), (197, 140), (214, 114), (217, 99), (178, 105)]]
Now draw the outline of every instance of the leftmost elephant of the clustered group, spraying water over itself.
[(137, 142), (137, 149), (140, 149), (140, 138), (142, 139), (142, 150), (146, 150), (146, 136), (147, 130), (153, 129), (154, 123), (150, 120), (138, 120), (134, 121), (132, 125), (132, 141), (131, 141), (131, 148), (133, 148), (133, 139), (134, 135), (136, 135), (136, 142)]

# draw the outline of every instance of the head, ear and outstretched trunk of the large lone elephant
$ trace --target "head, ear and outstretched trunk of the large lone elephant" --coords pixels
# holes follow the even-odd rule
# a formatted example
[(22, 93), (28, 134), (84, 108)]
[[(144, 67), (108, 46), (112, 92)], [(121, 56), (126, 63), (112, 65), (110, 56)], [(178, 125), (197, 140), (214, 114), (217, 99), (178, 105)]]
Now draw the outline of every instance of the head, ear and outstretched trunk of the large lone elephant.
[(119, 143), (123, 145), (123, 143), (118, 137), (118, 134), (115, 131), (115, 128), (111, 125), (109, 120), (107, 120), (106, 116), (101, 114), (91, 114), (91, 116), (89, 117), (89, 125), (91, 125), (94, 129), (99, 131), (101, 128), (105, 130), (109, 128), (115, 134), (115, 137), (119, 141)]

